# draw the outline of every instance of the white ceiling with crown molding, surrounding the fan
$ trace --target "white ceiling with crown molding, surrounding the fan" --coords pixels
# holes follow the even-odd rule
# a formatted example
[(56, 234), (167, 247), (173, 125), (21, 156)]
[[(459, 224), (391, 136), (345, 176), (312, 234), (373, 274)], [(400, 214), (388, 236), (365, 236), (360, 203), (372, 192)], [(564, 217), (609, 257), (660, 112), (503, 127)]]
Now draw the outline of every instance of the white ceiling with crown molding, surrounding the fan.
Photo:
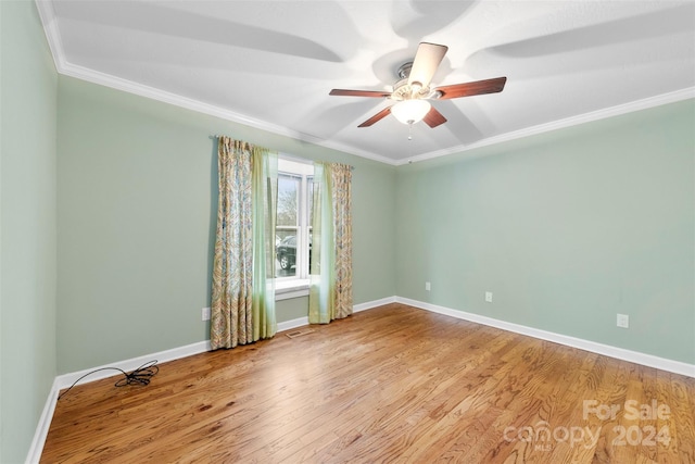
[[(37, 0), (59, 72), (391, 164), (695, 96), (695, 2)], [(433, 86), (507, 76), (434, 101), (435, 128), (391, 103), (420, 41), (448, 46)], [(233, 137), (233, 134), (229, 134)]]

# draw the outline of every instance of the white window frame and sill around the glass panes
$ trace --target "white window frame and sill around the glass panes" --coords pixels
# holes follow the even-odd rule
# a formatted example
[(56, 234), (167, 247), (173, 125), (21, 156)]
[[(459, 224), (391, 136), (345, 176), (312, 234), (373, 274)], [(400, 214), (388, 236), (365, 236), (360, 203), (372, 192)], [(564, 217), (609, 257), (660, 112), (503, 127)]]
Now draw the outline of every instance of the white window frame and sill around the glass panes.
[(308, 294), (308, 234), (312, 225), (309, 218), (308, 179), (314, 176), (314, 163), (308, 160), (280, 154), (278, 156), (278, 174), (289, 174), (300, 177), (300, 198), (298, 203), (299, 224), (296, 233), (296, 255), (294, 263), (294, 276), (276, 277), (275, 299), (285, 300)]

